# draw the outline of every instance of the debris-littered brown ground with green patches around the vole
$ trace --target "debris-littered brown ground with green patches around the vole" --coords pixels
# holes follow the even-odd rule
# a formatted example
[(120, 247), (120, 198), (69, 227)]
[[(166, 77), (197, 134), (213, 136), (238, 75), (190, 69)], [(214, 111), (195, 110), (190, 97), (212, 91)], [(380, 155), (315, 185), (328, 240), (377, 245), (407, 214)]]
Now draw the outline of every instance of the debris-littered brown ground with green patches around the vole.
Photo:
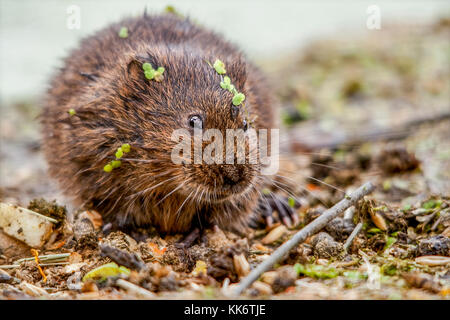
[[(141, 242), (104, 235), (98, 214), (71, 206), (47, 177), (38, 103), (2, 106), (1, 201), (59, 222), (38, 250), (41, 270), (29, 247), (0, 231), (0, 297), (228, 298), (296, 231), (371, 180), (371, 195), (292, 250), (243, 298), (449, 299), (448, 39), (450, 20), (441, 19), (323, 39), (260, 62), (283, 107), (282, 168), (272, 191), (299, 200), (300, 222), (246, 236), (206, 230), (187, 249), (176, 245), (181, 235), (150, 231)], [(294, 190), (287, 194), (283, 184)]]

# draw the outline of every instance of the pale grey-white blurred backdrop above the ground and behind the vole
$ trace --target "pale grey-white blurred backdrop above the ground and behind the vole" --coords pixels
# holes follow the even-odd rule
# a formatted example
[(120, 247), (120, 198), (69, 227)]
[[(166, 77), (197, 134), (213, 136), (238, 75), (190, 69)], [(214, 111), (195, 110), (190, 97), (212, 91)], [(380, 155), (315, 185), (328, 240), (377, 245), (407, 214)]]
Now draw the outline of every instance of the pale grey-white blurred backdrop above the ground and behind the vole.
[[(283, 56), (326, 35), (365, 36), (367, 8), (380, 7), (382, 26), (417, 25), (449, 13), (448, 1), (80, 1), (1, 0), (0, 96), (2, 101), (39, 96), (49, 76), (78, 41), (129, 15), (159, 13), (173, 5), (180, 13), (224, 34), (251, 59)], [(80, 9), (80, 29), (69, 29), (67, 10)], [(381, 30), (380, 30), (381, 31)], [(382, 32), (382, 31), (381, 31)]]

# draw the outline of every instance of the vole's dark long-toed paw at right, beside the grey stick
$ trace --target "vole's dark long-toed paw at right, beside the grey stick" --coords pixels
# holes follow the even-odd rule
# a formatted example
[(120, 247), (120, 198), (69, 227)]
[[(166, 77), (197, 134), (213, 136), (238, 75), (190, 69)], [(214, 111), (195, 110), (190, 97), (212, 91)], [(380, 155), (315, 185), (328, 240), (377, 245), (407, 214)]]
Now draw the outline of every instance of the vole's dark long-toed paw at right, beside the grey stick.
[(255, 214), (250, 219), (249, 226), (257, 228), (265, 224), (270, 227), (274, 222), (281, 221), (288, 227), (294, 227), (299, 223), (296, 209), (300, 206), (299, 200), (293, 197), (281, 196), (273, 192), (263, 194)]

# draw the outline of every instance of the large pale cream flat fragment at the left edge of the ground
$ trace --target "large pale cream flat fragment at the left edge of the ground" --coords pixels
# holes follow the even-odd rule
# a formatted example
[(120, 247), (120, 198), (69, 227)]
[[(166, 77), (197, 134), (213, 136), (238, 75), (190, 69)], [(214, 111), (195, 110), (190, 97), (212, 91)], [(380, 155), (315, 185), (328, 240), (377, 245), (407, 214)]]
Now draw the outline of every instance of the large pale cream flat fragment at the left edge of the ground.
[(16, 205), (0, 203), (0, 228), (30, 247), (44, 245), (58, 221)]

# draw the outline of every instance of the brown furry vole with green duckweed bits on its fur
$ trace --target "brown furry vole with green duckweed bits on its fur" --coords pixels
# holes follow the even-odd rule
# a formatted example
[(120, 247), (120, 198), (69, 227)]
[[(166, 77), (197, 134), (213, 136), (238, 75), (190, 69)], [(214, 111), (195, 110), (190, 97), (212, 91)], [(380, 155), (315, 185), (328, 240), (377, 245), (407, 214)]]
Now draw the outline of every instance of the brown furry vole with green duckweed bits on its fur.
[[(123, 26), (127, 38), (118, 35)], [(174, 233), (209, 224), (244, 226), (263, 185), (256, 165), (176, 165), (170, 158), (172, 131), (191, 129), (192, 116), (204, 129), (248, 126), (206, 62), (216, 59), (245, 94), (252, 126), (273, 128), (272, 95), (260, 72), (236, 47), (188, 19), (128, 18), (84, 39), (52, 79), (45, 100), (50, 174), (78, 205), (119, 228)], [(146, 79), (144, 62), (163, 66), (163, 80)], [(105, 172), (123, 143), (131, 151), (119, 168)]]

